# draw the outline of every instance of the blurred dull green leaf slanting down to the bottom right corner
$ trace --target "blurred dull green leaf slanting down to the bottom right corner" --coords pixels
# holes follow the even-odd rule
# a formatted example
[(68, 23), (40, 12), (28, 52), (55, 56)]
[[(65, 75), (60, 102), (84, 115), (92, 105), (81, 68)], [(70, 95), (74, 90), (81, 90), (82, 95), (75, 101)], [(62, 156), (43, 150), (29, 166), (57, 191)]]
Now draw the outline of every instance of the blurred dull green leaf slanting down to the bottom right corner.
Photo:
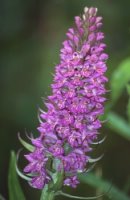
[(79, 175), (80, 181), (89, 184), (92, 187), (101, 189), (102, 192), (105, 193), (112, 200), (129, 200), (130, 198), (120, 191), (116, 186), (108, 181), (97, 177), (93, 173), (83, 173)]

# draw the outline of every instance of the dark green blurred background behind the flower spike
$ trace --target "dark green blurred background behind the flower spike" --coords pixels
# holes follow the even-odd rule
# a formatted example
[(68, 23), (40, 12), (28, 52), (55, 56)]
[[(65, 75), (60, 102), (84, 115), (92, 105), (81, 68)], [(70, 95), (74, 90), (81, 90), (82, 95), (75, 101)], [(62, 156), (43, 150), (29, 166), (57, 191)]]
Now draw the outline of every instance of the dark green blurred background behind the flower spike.
[[(107, 75), (111, 77), (118, 64), (130, 55), (130, 0), (0, 1), (0, 193), (7, 199), (10, 151), (21, 148), (17, 133), (23, 138), (25, 130), (37, 133), (38, 108), (44, 108), (41, 97), (50, 93), (61, 42), (84, 6), (97, 6), (104, 18), (110, 56)], [(126, 102), (124, 91), (114, 108), (124, 117)], [(123, 189), (130, 180), (130, 142), (108, 128), (101, 131), (108, 137), (102, 148), (105, 156), (98, 166), (104, 178)], [(21, 183), (27, 200), (38, 199), (38, 192), (25, 181)], [(74, 193), (90, 196), (94, 191), (81, 185)]]

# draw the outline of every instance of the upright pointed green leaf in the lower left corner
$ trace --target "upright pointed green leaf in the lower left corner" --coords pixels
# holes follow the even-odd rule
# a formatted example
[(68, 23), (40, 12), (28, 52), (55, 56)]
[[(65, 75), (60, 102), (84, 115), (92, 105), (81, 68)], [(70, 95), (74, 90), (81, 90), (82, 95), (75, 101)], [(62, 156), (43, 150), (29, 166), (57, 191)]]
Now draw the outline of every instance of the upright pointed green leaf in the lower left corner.
[(8, 175), (8, 188), (9, 188), (9, 200), (25, 200), (25, 196), (22, 192), (18, 176), (16, 173), (16, 155), (14, 151), (11, 152), (11, 159), (9, 165)]

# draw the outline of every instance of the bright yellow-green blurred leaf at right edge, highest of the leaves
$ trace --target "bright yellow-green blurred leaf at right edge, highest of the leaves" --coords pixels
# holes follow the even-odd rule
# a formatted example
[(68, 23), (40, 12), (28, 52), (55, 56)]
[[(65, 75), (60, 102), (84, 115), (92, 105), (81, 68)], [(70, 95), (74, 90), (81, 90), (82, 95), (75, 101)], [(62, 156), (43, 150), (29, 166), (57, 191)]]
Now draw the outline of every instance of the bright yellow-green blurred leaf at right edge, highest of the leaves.
[(112, 103), (121, 96), (123, 89), (130, 80), (130, 58), (124, 60), (115, 70), (111, 79)]

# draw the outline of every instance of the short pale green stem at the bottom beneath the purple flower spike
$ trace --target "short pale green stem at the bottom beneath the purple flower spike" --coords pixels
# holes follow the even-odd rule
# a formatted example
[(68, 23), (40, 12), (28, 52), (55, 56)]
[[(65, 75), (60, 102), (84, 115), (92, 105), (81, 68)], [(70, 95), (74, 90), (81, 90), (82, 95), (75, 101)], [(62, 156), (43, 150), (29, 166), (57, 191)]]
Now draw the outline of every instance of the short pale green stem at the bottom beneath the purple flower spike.
[(54, 198), (55, 198), (54, 191), (50, 191), (48, 190), (47, 187), (45, 187), (42, 191), (40, 200), (54, 200)]

